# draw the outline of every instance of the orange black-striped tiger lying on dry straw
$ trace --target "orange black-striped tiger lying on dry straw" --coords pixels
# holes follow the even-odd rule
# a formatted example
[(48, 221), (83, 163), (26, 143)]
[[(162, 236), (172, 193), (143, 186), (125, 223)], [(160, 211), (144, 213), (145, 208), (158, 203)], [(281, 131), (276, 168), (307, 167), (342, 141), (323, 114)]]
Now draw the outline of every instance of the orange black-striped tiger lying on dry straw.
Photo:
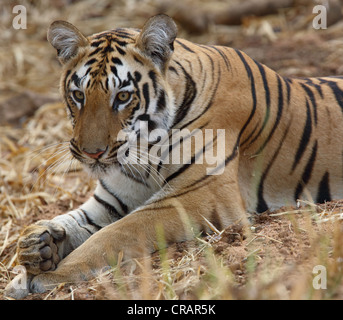
[[(342, 77), (281, 76), (238, 49), (177, 38), (164, 14), (141, 30), (89, 37), (55, 21), (47, 38), (63, 68), (70, 152), (97, 185), (79, 208), (22, 231), (17, 258), (27, 288), (13, 280), (8, 295), (92, 279), (158, 250), (161, 232), (168, 246), (213, 227), (249, 229), (252, 214), (299, 199), (342, 198)], [(146, 159), (141, 142), (132, 157), (144, 164), (119, 161), (130, 135), (145, 151), (161, 143), (156, 130), (164, 143), (188, 131), (161, 149), (164, 158)], [(162, 161), (177, 148), (187, 161)], [(214, 151), (216, 167), (198, 161)]]

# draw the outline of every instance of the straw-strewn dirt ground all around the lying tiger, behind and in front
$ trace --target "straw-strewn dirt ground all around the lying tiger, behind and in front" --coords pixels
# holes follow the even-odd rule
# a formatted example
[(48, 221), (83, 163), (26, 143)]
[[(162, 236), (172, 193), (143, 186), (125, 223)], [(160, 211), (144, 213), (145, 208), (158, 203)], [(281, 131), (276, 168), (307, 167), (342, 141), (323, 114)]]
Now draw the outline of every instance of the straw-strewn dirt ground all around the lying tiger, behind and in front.
[[(0, 299), (7, 299), (3, 290), (15, 276), (20, 230), (77, 207), (94, 188), (76, 163), (65, 161), (70, 124), (59, 100), (59, 65), (45, 40), (53, 20), (67, 19), (91, 34), (141, 27), (150, 15), (165, 12), (177, 19), (181, 37), (239, 48), (283, 76), (343, 74), (343, 21), (329, 11), (335, 23), (314, 29), (311, 1), (249, 15), (238, 25), (217, 23), (204, 12), (239, 1), (210, 6), (189, 0), (190, 17), (169, 1), (22, 1), (28, 12), (22, 31), (12, 27), (17, 2), (6, 0), (0, 8)], [(26, 299), (342, 299), (343, 201), (306, 200), (298, 208), (253, 216), (248, 230), (214, 230), (90, 282), (61, 284)], [(316, 266), (326, 272), (320, 288)]]

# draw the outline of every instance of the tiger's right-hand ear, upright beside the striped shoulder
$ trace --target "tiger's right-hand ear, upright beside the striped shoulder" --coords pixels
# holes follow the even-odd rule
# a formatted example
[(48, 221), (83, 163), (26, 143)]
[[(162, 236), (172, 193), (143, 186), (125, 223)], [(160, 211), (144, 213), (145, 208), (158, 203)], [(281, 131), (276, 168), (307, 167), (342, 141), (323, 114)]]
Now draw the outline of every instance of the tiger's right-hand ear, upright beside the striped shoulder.
[(138, 48), (163, 71), (174, 51), (177, 27), (165, 14), (151, 17), (137, 39)]

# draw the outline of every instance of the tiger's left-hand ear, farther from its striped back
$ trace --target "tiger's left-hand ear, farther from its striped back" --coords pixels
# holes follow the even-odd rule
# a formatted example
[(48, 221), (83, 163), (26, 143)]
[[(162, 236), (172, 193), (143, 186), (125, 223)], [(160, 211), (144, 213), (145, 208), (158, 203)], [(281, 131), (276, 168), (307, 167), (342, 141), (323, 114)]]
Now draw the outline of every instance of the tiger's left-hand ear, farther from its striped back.
[(71, 23), (55, 21), (48, 29), (48, 41), (57, 50), (62, 64), (75, 56), (81, 47), (86, 47), (87, 38)]

